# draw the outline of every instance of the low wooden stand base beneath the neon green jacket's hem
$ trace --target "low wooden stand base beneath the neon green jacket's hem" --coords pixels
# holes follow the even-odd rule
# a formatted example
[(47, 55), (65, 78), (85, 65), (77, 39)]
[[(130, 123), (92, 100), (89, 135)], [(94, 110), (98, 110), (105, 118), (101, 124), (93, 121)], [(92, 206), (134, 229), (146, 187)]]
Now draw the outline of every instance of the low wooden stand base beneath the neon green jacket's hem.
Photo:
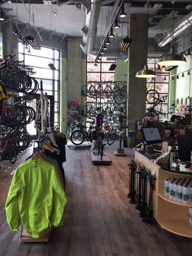
[(28, 232), (21, 226), (20, 230), (20, 242), (21, 243), (48, 243), (51, 233), (51, 227), (49, 227), (40, 238), (31, 237)]

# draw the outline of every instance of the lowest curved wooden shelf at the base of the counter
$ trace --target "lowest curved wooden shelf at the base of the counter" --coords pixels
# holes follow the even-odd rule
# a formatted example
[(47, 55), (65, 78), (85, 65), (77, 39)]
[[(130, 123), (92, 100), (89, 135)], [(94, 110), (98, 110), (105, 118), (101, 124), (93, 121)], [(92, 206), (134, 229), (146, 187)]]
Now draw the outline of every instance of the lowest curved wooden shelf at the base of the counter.
[(192, 237), (192, 224), (189, 223), (188, 219), (180, 220), (180, 219), (159, 219), (159, 225), (179, 236)]

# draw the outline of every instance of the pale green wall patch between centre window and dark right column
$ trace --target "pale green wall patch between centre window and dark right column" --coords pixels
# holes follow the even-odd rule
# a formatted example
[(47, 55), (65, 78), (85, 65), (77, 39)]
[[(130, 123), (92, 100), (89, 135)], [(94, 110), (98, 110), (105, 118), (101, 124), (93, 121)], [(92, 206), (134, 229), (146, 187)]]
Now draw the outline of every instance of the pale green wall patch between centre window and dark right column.
[(115, 81), (127, 82), (128, 63), (122, 59), (116, 59)]

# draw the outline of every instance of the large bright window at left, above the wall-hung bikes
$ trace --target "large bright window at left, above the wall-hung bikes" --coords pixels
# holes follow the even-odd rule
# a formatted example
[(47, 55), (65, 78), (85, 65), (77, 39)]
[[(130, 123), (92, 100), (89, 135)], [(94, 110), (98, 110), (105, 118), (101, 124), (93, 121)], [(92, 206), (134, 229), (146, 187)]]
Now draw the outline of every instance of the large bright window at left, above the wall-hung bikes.
[[(25, 65), (34, 68), (35, 74), (33, 77), (40, 84), (43, 82), (44, 93), (47, 93), (48, 98), (53, 97), (53, 114), (52, 119), (54, 125), (59, 126), (59, 113), (60, 113), (60, 50), (48, 47), (41, 47), (40, 50), (25, 49), (24, 45), (19, 42), (19, 60), (24, 60)], [(49, 68), (49, 63), (52, 63), (56, 70)], [(52, 97), (51, 97), (52, 96)], [(50, 100), (50, 102), (52, 102)]]

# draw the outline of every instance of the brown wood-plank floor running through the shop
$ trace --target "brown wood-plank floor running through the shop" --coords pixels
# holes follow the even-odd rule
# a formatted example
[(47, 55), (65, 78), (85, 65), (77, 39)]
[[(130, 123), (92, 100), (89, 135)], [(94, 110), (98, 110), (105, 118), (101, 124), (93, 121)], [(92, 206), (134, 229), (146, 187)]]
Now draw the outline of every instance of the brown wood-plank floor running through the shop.
[[(65, 225), (52, 228), (48, 244), (20, 244), (19, 232), (6, 224), (4, 202), (16, 164), (4, 161), (0, 173), (0, 256), (181, 256), (192, 255), (192, 240), (173, 235), (157, 223), (141, 222), (128, 203), (128, 168), (131, 158), (106, 150), (112, 166), (93, 166), (89, 150), (67, 150), (65, 175), (68, 203)], [(129, 150), (129, 153), (131, 151)]]

